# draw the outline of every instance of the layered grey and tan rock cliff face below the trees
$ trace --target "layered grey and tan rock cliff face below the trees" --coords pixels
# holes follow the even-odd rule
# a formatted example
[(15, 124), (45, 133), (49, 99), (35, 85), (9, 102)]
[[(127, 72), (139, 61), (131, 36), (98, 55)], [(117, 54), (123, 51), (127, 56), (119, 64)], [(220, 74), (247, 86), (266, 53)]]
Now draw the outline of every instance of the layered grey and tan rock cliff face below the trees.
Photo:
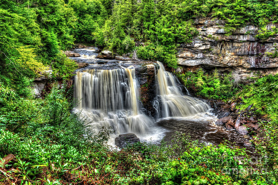
[[(178, 65), (183, 71), (194, 72), (200, 68), (241, 75), (242, 78), (261, 74), (276, 74), (278, 58), (268, 56), (278, 46), (278, 35), (267, 40), (255, 37), (258, 27), (247, 25), (230, 36), (225, 35), (225, 21), (218, 18), (202, 18), (195, 21), (200, 35), (192, 43), (178, 48)], [(268, 24), (278, 27), (278, 23)]]

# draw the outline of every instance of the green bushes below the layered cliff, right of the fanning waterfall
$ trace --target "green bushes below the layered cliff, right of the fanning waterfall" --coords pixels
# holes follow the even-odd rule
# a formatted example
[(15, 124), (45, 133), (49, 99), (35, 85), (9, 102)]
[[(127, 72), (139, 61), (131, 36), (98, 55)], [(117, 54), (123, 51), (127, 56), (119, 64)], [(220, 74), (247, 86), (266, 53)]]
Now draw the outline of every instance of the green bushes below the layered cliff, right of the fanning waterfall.
[(217, 70), (212, 74), (204, 74), (204, 71), (200, 69), (196, 74), (187, 72), (176, 73), (176, 75), (189, 90), (206, 98), (225, 100), (234, 96), (238, 91), (231, 73), (221, 77)]

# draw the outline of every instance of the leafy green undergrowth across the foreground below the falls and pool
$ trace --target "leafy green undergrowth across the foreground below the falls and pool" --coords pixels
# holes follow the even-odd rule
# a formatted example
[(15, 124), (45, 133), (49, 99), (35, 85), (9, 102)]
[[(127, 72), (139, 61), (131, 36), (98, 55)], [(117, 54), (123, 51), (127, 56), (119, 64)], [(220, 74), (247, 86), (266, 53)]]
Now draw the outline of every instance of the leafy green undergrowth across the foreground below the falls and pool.
[[(3, 84), (0, 92), (2, 184), (276, 182), (277, 173), (271, 169), (276, 155), (271, 158), (272, 166), (253, 164), (244, 149), (231, 149), (228, 143), (206, 146), (179, 132), (168, 143), (136, 143), (118, 151), (107, 145), (111, 128), (95, 133), (89, 120), (71, 112), (76, 101), (66, 98), (71, 92), (57, 83), (45, 99), (21, 98)], [(273, 135), (268, 130), (264, 134)], [(272, 144), (272, 150), (276, 148)], [(15, 158), (5, 163), (3, 159), (11, 155)]]

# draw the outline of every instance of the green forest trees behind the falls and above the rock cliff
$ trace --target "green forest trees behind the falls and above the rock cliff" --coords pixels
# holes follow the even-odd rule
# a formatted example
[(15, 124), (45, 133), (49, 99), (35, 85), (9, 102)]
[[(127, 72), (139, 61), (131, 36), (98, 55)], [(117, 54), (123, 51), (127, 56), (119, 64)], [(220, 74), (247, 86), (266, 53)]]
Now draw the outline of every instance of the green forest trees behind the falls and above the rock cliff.
[[(4, 84), (19, 90), (40, 71), (58, 77), (74, 70), (61, 54), (74, 42), (94, 44), (119, 54), (133, 51), (141, 59), (177, 66), (175, 48), (198, 35), (194, 19), (208, 14), (226, 21), (226, 34), (247, 23), (261, 28), (259, 38), (273, 33), (278, 1), (260, 0), (2, 0), (0, 62)], [(274, 30), (275, 31), (275, 30)], [(144, 46), (135, 43), (144, 43)], [(24, 90), (22, 95), (26, 94)]]

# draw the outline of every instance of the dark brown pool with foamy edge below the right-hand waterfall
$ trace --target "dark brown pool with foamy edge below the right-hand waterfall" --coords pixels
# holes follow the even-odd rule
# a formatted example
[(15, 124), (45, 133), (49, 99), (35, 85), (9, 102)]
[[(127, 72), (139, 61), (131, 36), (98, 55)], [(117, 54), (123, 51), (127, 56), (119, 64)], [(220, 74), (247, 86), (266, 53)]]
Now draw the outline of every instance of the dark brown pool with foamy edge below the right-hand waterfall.
[(194, 140), (198, 139), (201, 143), (219, 145), (227, 140), (231, 146), (246, 148), (250, 153), (255, 152), (253, 146), (246, 146), (246, 143), (250, 143), (250, 136), (215, 125), (216, 120), (216, 116), (207, 113), (187, 118), (160, 119), (157, 123), (159, 127), (166, 129), (165, 141), (170, 141), (175, 132), (179, 131), (191, 136)]

